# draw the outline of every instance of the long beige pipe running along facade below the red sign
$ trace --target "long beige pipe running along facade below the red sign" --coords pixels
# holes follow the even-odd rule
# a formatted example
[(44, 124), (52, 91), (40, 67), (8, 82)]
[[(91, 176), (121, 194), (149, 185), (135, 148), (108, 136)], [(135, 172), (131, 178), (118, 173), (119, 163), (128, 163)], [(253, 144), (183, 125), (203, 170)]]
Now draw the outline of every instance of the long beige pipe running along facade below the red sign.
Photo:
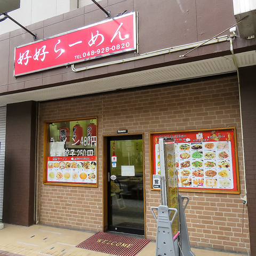
[(187, 49), (191, 49), (191, 48), (194, 48), (194, 47), (198, 47), (201, 44), (209, 45), (209, 44), (215, 44), (215, 43), (220, 43), (220, 42), (226, 42), (228, 40), (229, 40), (229, 37), (227, 35), (225, 35), (225, 36), (212, 38), (210, 41), (208, 39), (208, 40), (204, 40), (204, 41), (200, 41), (200, 42), (196, 42), (196, 43), (173, 46), (173, 47), (169, 47), (169, 48), (165, 48), (165, 49), (161, 49), (161, 50), (157, 50), (157, 51), (143, 53), (143, 54), (140, 54), (140, 55), (132, 57), (132, 58), (109, 61), (109, 62), (100, 63), (100, 64), (97, 64), (97, 65), (92, 65), (92, 66), (87, 66), (87, 67), (82, 67), (82, 68), (75, 68), (75, 65), (72, 64), (71, 69), (74, 72), (79, 72), (79, 71), (89, 70), (89, 69), (93, 69), (93, 68), (106, 67), (106, 66), (110, 66), (110, 65), (114, 65), (114, 64), (119, 64), (119, 63), (124, 63), (124, 62), (129, 62), (129, 61), (135, 61), (135, 60), (141, 60), (141, 59), (155, 57), (155, 56), (163, 55), (163, 54), (167, 54), (167, 53), (187, 50)]

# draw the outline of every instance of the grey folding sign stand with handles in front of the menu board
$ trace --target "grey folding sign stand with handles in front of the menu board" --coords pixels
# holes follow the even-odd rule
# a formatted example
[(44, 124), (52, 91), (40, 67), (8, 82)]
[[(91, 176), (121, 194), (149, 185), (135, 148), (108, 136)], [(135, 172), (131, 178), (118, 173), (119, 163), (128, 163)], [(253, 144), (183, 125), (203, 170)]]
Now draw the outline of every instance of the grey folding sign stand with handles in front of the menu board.
[(181, 196), (178, 191), (173, 138), (159, 139), (159, 153), (161, 205), (150, 208), (157, 222), (156, 256), (195, 256), (190, 250), (185, 217), (189, 198)]

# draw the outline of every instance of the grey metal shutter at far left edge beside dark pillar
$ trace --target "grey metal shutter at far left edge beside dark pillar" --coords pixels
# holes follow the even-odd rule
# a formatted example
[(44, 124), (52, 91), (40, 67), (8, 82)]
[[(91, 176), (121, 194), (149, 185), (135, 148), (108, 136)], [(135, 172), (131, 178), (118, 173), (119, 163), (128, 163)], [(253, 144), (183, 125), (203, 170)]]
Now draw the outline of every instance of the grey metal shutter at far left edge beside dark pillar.
[(0, 219), (3, 217), (6, 107), (0, 107)]

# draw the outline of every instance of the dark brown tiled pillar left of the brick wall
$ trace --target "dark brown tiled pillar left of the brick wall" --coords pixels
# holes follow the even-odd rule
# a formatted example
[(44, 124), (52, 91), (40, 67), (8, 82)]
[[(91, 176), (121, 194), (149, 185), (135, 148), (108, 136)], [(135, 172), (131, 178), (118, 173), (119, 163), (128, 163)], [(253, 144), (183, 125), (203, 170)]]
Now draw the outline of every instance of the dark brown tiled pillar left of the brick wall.
[(34, 223), (37, 103), (7, 105), (3, 222)]

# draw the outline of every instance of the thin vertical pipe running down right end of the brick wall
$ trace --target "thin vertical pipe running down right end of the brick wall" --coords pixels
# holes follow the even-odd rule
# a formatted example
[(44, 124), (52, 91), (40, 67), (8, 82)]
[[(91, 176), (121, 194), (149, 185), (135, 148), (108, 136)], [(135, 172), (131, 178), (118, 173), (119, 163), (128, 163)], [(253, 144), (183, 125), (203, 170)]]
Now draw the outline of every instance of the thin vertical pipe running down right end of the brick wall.
[(242, 137), (242, 154), (243, 154), (243, 168), (244, 168), (244, 188), (245, 188), (245, 196), (242, 198), (243, 201), (247, 203), (247, 189), (246, 189), (246, 180), (245, 180), (245, 163), (244, 163), (244, 135), (243, 135), (243, 121), (242, 121), (242, 106), (241, 106), (241, 90), (240, 90), (240, 78), (239, 78), (239, 70), (238, 70), (238, 63), (236, 59), (236, 55), (234, 54), (233, 48), (233, 38), (236, 36), (236, 27), (231, 28), (230, 30), (230, 52), (232, 54), (232, 59), (237, 71), (237, 81), (238, 81), (238, 93), (239, 93), (239, 108), (240, 108), (240, 119), (241, 119), (241, 137)]

